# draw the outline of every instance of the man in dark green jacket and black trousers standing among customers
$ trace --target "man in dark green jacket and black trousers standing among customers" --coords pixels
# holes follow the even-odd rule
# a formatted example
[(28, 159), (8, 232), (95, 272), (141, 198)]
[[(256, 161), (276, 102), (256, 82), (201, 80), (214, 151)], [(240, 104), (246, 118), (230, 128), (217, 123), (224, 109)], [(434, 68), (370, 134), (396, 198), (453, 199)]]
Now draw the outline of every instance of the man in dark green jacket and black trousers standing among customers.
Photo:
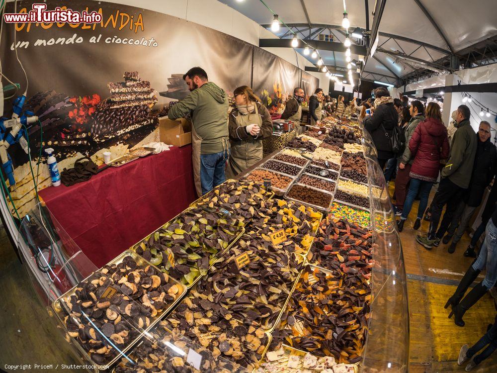
[[(468, 106), (460, 105), (457, 108), (457, 130), (452, 138), (449, 159), (441, 173), (440, 185), (431, 204), (430, 230), (427, 236), (416, 237), (416, 241), (428, 250), (439, 245), (464, 190), (469, 187), (477, 149), (477, 137), (469, 121), (470, 115)], [(447, 208), (438, 227), (445, 204)]]

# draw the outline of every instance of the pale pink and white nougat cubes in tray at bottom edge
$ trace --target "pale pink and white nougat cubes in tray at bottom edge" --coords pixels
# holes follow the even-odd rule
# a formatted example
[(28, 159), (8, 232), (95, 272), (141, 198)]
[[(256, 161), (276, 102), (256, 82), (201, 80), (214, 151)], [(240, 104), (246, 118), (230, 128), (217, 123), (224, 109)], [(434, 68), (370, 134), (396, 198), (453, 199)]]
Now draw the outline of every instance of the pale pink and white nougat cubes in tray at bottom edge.
[(309, 352), (285, 344), (279, 349), (269, 349), (253, 373), (357, 373), (357, 364), (337, 364), (334, 357), (317, 357)]

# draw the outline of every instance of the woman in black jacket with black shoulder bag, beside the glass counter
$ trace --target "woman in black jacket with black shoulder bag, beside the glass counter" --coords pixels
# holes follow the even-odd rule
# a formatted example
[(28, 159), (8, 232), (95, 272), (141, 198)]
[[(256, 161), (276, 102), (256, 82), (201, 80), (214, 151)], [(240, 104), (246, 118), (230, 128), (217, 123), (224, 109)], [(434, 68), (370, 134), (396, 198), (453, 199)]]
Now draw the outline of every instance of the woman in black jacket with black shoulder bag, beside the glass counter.
[(378, 152), (378, 163), (383, 169), (387, 161), (395, 156), (390, 138), (394, 127), (398, 125), (398, 114), (394, 107), (394, 99), (390, 97), (385, 87), (377, 88), (374, 94), (376, 97), (374, 112), (364, 117), (363, 124), (373, 138)]

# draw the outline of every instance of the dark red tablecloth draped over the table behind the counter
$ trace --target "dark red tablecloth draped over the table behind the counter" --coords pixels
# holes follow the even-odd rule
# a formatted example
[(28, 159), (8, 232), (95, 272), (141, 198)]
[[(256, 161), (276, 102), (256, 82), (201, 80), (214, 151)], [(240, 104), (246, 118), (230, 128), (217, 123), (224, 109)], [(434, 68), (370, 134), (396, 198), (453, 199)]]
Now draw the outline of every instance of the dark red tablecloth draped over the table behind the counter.
[(100, 268), (195, 200), (191, 145), (109, 167), (89, 181), (48, 187), (39, 194)]

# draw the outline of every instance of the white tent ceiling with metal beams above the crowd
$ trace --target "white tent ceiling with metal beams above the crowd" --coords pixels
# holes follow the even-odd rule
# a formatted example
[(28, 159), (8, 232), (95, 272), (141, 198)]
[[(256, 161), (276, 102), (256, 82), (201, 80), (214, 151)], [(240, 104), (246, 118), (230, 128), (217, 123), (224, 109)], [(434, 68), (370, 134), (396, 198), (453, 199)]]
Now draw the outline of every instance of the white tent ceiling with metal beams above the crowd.
[[(272, 21), (271, 12), (260, 0), (220, 1), (261, 25), (267, 25)], [(345, 1), (351, 29), (355, 27), (366, 28), (366, 1), (368, 1), (369, 6), (368, 18), (369, 27), (371, 27), (373, 21), (371, 12), (375, 6), (375, 0)], [(300, 29), (308, 25), (305, 6), (309, 20), (316, 27), (306, 30), (303, 34), (300, 33), (300, 38), (308, 38), (309, 34), (314, 34), (313, 38), (316, 38), (319, 33), (326, 33), (333, 34), (336, 42), (342, 42), (344, 39), (344, 30), (341, 27), (333, 28), (333, 26), (341, 25), (343, 0), (264, 0), (264, 2), (286, 24), (299, 24), (302, 26)], [(431, 64), (429, 68), (432, 69), (431, 71), (442, 71), (443, 69), (440, 69), (439, 65), (436, 68), (435, 62), (449, 56), (451, 49), (457, 54), (458, 51), (485, 41), (487, 38), (495, 38), (497, 36), (496, 18), (495, 0), (389, 1), (383, 12), (379, 31), (380, 33), (400, 36), (404, 40), (380, 35), (378, 44), (381, 46), (380, 49), (397, 55), (377, 51), (375, 53), (376, 59), (368, 60), (366, 70), (402, 78), (412, 74), (414, 70), (423, 70), (422, 62), (425, 61)], [(331, 26), (330, 30), (323, 29), (327, 25)], [(297, 28), (293, 28), (293, 30), (297, 31)], [(288, 28), (283, 26), (277, 33), (279, 37), (289, 38), (291, 35), (292, 33), (289, 32)], [(412, 42), (406, 38), (411, 39)], [(424, 45), (416, 44), (415, 41), (424, 43)], [(333, 53), (329, 51), (320, 51), (320, 54), (325, 64), (334, 65), (336, 63), (337, 66), (346, 66), (345, 56), (341, 52), (334, 52), (334, 57)], [(398, 54), (412, 54), (416, 61), (399, 57)], [(352, 59), (354, 57), (357, 58), (357, 56), (352, 55)], [(316, 62), (308, 59), (313, 63)]]

